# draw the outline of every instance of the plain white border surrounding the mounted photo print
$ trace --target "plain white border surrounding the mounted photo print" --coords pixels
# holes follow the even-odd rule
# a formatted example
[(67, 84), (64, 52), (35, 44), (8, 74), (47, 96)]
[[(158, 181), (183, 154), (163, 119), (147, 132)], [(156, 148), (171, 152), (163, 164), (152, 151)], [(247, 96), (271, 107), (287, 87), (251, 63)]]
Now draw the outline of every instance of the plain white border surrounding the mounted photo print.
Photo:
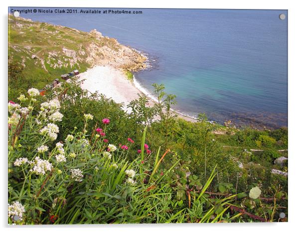
[[(0, 191), (0, 221), (3, 229), (6, 231), (32, 231), (32, 230), (43, 230), (50, 231), (55, 228), (57, 229), (71, 229), (72, 231), (80, 231), (87, 228), (89, 232), (92, 231), (131, 231), (131, 232), (152, 232), (155, 231), (243, 231), (253, 232), (256, 230), (270, 230), (276, 231), (294, 231), (297, 228), (297, 223), (300, 215), (299, 198), (299, 168), (300, 164), (300, 75), (299, 75), (299, 22), (300, 22), (300, 10), (296, 3), (296, 0), (209, 0), (209, 1), (196, 1), (196, 0), (106, 0), (106, 1), (95, 1), (95, 0), (10, 0), (9, 2), (1, 1), (1, 148), (2, 152), (0, 156), (2, 158), (2, 189)], [(33, 226), (33, 227), (22, 227), (20, 228), (7, 228), (7, 7), (8, 6), (72, 6), (72, 7), (135, 7), (135, 8), (232, 8), (232, 9), (288, 9), (289, 17), (289, 223), (256, 223), (256, 224), (218, 224), (218, 225), (189, 225), (189, 224), (175, 224), (175, 225), (81, 225), (81, 226)], [(298, 41), (298, 42), (297, 42)], [(297, 75), (298, 74), (298, 75)]]

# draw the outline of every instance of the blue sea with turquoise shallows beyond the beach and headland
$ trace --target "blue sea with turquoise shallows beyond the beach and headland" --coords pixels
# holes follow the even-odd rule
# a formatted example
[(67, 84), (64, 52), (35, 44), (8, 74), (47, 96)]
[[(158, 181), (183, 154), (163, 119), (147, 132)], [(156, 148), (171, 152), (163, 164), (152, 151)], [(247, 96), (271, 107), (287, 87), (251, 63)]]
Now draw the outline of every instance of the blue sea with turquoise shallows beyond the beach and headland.
[(20, 16), (90, 31), (146, 53), (135, 74), (149, 91), (165, 85), (175, 109), (238, 124), (287, 126), (287, 10), (142, 9), (143, 14)]

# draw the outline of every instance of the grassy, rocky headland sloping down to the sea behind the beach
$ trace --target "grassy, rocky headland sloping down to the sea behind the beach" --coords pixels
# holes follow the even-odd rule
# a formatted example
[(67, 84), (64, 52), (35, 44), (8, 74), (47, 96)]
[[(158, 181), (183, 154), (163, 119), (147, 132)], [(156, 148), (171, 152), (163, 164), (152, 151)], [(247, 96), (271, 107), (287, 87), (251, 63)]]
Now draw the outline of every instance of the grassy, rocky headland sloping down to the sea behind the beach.
[(23, 78), (35, 88), (74, 69), (83, 72), (95, 65), (110, 65), (137, 71), (146, 60), (95, 29), (84, 32), (13, 15), (8, 16), (8, 54), (10, 61), (24, 67)]

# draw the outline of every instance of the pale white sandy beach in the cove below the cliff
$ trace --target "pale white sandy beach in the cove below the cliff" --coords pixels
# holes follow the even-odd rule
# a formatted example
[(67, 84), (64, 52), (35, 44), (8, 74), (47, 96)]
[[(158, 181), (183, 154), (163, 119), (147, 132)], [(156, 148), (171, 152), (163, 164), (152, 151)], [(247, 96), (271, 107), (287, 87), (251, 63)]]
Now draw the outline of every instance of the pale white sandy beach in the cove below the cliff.
[[(157, 102), (156, 98), (136, 80), (135, 76), (133, 81), (128, 80), (122, 69), (97, 65), (81, 73), (79, 80), (83, 79), (85, 81), (81, 84), (82, 89), (91, 93), (98, 92), (105, 95), (106, 98), (114, 100), (116, 103), (123, 104), (123, 110), (127, 113), (131, 113), (131, 109), (127, 108), (127, 105), (131, 101), (139, 99), (138, 94), (145, 95), (150, 100), (150, 106), (153, 106)], [(191, 122), (196, 121), (195, 118), (184, 115), (174, 109), (171, 109), (171, 111), (179, 118)]]

